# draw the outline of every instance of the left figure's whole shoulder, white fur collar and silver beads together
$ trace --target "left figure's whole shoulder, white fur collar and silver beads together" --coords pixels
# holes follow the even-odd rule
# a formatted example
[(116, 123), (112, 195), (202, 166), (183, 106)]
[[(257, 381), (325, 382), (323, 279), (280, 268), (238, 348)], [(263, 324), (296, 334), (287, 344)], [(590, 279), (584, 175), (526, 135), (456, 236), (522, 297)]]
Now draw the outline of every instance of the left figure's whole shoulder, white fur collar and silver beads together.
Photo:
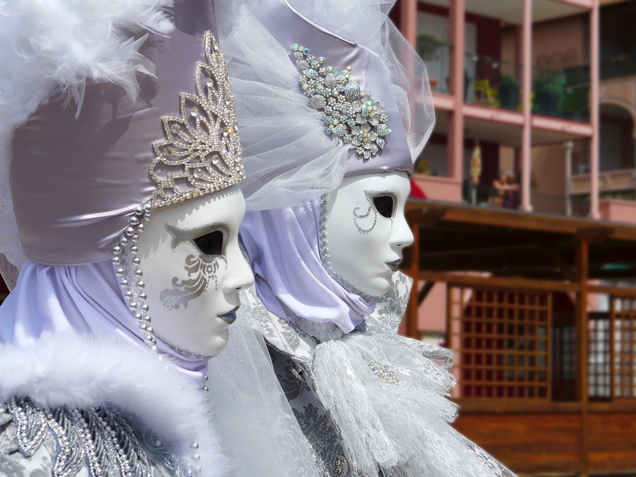
[(149, 349), (116, 335), (48, 333), (0, 347), (0, 363), (2, 476), (225, 470), (202, 391)]

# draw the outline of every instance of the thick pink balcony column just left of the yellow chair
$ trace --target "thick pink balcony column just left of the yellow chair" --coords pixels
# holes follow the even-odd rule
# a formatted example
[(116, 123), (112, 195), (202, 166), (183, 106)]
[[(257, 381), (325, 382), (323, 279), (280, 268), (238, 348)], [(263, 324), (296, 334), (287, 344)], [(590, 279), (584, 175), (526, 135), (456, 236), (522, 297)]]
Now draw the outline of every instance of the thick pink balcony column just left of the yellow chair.
[(448, 115), (448, 177), (464, 179), (464, 31), (465, 0), (450, 0), (449, 38), (453, 45), (450, 55), (450, 88), (453, 111)]

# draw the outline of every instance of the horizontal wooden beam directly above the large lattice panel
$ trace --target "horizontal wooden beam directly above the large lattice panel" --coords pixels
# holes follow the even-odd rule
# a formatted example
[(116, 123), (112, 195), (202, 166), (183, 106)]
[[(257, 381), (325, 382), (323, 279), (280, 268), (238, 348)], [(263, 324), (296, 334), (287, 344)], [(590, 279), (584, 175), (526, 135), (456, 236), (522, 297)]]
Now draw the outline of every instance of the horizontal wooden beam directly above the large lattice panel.
[(420, 280), (445, 282), (453, 285), (474, 287), (494, 287), (524, 291), (576, 292), (580, 284), (550, 280), (527, 280), (518, 277), (481, 277), (479, 275), (459, 275), (457, 273), (429, 272), (420, 270)]

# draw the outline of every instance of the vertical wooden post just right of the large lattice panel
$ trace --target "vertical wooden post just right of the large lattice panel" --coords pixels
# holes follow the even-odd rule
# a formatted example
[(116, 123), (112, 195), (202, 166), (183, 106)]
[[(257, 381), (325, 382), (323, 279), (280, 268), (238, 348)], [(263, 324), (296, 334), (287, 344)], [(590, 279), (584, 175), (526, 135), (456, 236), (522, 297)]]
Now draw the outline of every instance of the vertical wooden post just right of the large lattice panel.
[(581, 402), (581, 477), (588, 477), (590, 445), (588, 433), (588, 242), (576, 245), (576, 274), (579, 293), (576, 300), (577, 330), (577, 399)]

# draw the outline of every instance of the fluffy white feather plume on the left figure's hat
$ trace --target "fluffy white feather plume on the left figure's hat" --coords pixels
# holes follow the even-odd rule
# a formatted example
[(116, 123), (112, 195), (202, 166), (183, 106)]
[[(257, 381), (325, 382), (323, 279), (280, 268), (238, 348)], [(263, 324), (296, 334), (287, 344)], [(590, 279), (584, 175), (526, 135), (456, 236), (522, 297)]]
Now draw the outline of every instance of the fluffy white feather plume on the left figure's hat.
[[(0, 0), (0, 253), (14, 265), (18, 243), (9, 187), (13, 130), (54, 92), (81, 108), (87, 82), (121, 85), (133, 98), (135, 73), (153, 74), (137, 50), (148, 32), (166, 35), (172, 0)], [(139, 38), (141, 36), (141, 38)]]

